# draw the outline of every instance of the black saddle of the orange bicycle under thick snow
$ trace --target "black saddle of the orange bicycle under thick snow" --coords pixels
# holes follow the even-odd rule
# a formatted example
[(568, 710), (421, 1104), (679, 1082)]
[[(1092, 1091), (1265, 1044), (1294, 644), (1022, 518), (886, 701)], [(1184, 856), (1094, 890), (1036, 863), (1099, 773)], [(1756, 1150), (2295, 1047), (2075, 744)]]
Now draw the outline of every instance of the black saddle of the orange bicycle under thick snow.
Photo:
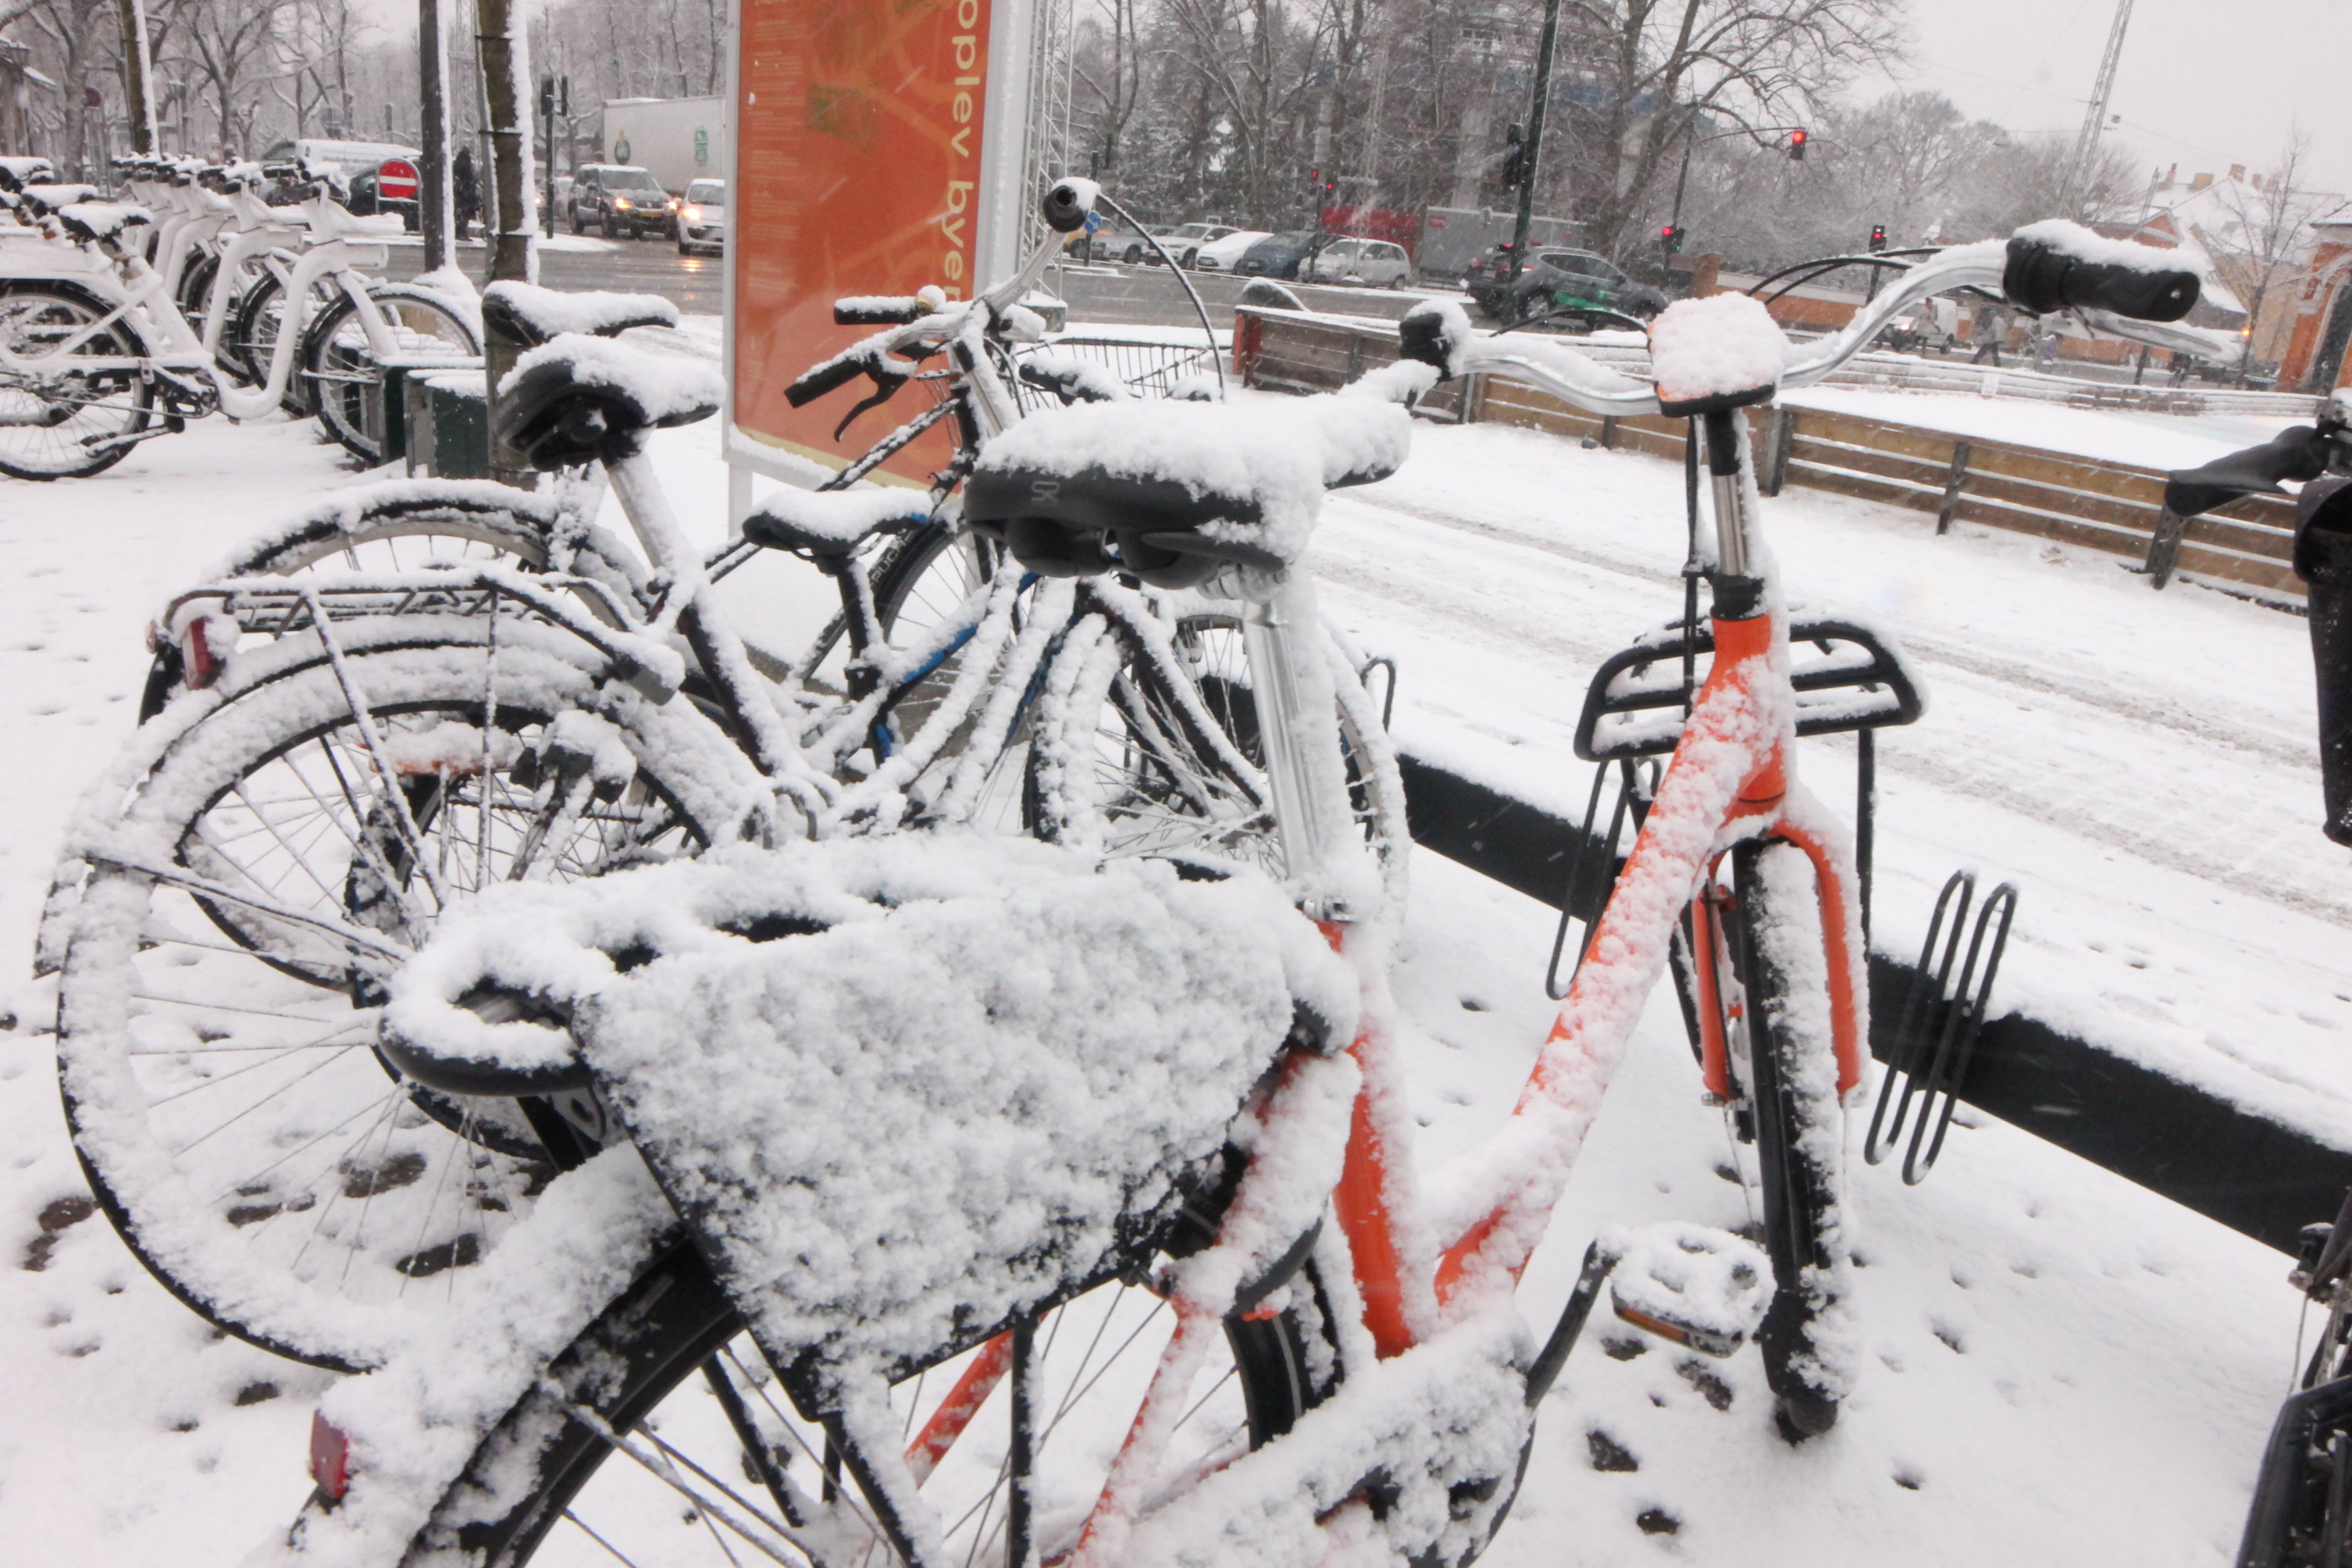
[(1047, 409), (981, 451), (964, 520), (1044, 576), (1195, 588), (1225, 562), (1289, 567), (1322, 494), (1385, 480), (1409, 447), (1404, 409), (1369, 397)]

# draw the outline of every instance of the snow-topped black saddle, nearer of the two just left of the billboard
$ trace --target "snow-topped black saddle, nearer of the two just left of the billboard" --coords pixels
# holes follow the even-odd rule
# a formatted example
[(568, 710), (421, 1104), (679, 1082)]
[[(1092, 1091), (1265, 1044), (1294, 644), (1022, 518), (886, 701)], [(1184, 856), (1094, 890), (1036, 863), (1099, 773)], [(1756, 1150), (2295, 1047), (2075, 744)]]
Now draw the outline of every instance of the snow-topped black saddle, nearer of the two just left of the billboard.
[(564, 331), (515, 362), (499, 383), (499, 440), (553, 473), (635, 454), (654, 428), (720, 411), (717, 367)]

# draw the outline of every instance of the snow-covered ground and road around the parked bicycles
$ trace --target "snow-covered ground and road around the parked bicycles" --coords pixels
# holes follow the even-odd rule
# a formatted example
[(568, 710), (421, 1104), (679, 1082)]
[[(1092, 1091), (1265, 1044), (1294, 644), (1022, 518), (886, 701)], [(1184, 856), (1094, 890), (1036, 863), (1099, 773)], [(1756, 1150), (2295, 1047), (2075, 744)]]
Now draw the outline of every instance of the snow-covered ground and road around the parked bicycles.
[[(2183, 433), (2169, 463), (2234, 440)], [(722, 496), (710, 447), (708, 425), (656, 444), (703, 531)], [(214, 421), (92, 482), (0, 489), (19, 562), (0, 588), (0, 719), (19, 736), (0, 764), (0, 952), (16, 964), (73, 792), (129, 731), (146, 616), (343, 477), (308, 425)], [(2154, 595), (2039, 541), (1938, 541), (1860, 501), (1799, 491), (1769, 520), (1799, 597), (1898, 625), (1929, 682), (1929, 717), (1879, 750), (1882, 938), (1915, 943), (1955, 865), (2016, 877), (2006, 1001), (2352, 1138), (2352, 856), (2314, 832), (2303, 623)], [(1327, 614), (1399, 658), (1411, 745), (1573, 811), (1585, 675), (1679, 609), (1679, 555), (1675, 465), (1423, 428), (1404, 475), (1331, 505), (1319, 576)], [(743, 574), (741, 609), (809, 614), (823, 590), (790, 571)], [(1809, 748), (1832, 799), (1849, 757)], [(1543, 1037), (1552, 914), (1435, 856), (1414, 882), (1397, 985), (1437, 1161), (1508, 1110)], [(45, 990), (0, 983), (0, 1001), (16, 1013), (0, 1032), (0, 1559), (235, 1563), (308, 1490), (327, 1378), (212, 1340), (103, 1220), (38, 1241), (42, 1211), (82, 1187)], [(1743, 1222), (1731, 1159), (1661, 999), (1529, 1274), (1538, 1328), (1599, 1225)], [(1955, 1135), (1924, 1187), (1858, 1164), (1853, 1185), (1870, 1359), (1835, 1436), (1780, 1443), (1752, 1356), (1691, 1368), (1649, 1342), (1613, 1359), (1604, 1340), (1637, 1340), (1597, 1321), (1489, 1561), (2227, 1561), (2288, 1382), (2284, 1260), (1997, 1124)], [(1637, 1469), (1597, 1469), (1592, 1434)]]

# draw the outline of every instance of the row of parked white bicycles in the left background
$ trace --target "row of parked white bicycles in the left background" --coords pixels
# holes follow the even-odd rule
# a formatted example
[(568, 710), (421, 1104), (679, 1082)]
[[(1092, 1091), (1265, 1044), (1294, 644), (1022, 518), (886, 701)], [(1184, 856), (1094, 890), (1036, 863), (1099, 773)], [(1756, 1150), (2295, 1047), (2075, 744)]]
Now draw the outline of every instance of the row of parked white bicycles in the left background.
[[(280, 407), (376, 463), (386, 367), (482, 353), (473, 284), (383, 282), (400, 216), (350, 214), (325, 174), (115, 167), (125, 200), (0, 158), (0, 473), (87, 477), (191, 418)], [(287, 181), (299, 202), (270, 205)]]

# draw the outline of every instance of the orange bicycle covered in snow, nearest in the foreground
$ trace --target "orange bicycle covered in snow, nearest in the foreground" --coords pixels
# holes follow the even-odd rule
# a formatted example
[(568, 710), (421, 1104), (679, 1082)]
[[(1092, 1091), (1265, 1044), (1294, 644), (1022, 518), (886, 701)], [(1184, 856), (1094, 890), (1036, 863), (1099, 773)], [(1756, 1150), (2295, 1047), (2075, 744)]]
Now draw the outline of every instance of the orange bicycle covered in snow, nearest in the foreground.
[[(2194, 299), (2159, 256), (2042, 226), (1938, 256), (1811, 350), (1752, 301), (1677, 306), (1656, 383), (1425, 308), (1404, 331), (1421, 362), (1369, 395), (1087, 407), (990, 442), (967, 520), (1023, 567), (1232, 607), (1279, 891), (1214, 856), (1103, 860), (1047, 790), (1049, 849), (729, 851), (445, 924), (393, 983), (388, 1048), (428, 1084), (562, 1084), (609, 1143), (534, 1215), (539, 1295), (485, 1293), (454, 1368), (402, 1361), (329, 1396), (294, 1549), (628, 1556), (644, 1530), (682, 1544), (663, 1502), (682, 1493), (715, 1561), (1463, 1563), (1611, 1274), (1623, 1316), (1684, 1345), (1762, 1335), (1790, 1427), (1823, 1429), (1851, 1375), (1837, 1180), (1860, 943), (1851, 856), (1792, 776), (1802, 705), (1740, 409), (1962, 284), (2150, 317)], [(1362, 693), (1298, 562), (1327, 487), (1402, 461), (1383, 395), (1463, 371), (1698, 421), (1715, 614), (1562, 1023), (1435, 1208), (1383, 1030), (1395, 886), (1357, 823), (1392, 771), (1376, 731), (1324, 719)], [(1073, 696), (1122, 658), (1080, 665)], [(1087, 745), (1040, 741), (1049, 778)], [(1745, 994), (1736, 1013), (1717, 997), (1740, 1030), (1710, 1084), (1778, 1119), (1769, 1255), (1700, 1227), (1604, 1237), (1538, 1349), (1512, 1281), (1724, 856), (1736, 936), (1698, 969)]]

